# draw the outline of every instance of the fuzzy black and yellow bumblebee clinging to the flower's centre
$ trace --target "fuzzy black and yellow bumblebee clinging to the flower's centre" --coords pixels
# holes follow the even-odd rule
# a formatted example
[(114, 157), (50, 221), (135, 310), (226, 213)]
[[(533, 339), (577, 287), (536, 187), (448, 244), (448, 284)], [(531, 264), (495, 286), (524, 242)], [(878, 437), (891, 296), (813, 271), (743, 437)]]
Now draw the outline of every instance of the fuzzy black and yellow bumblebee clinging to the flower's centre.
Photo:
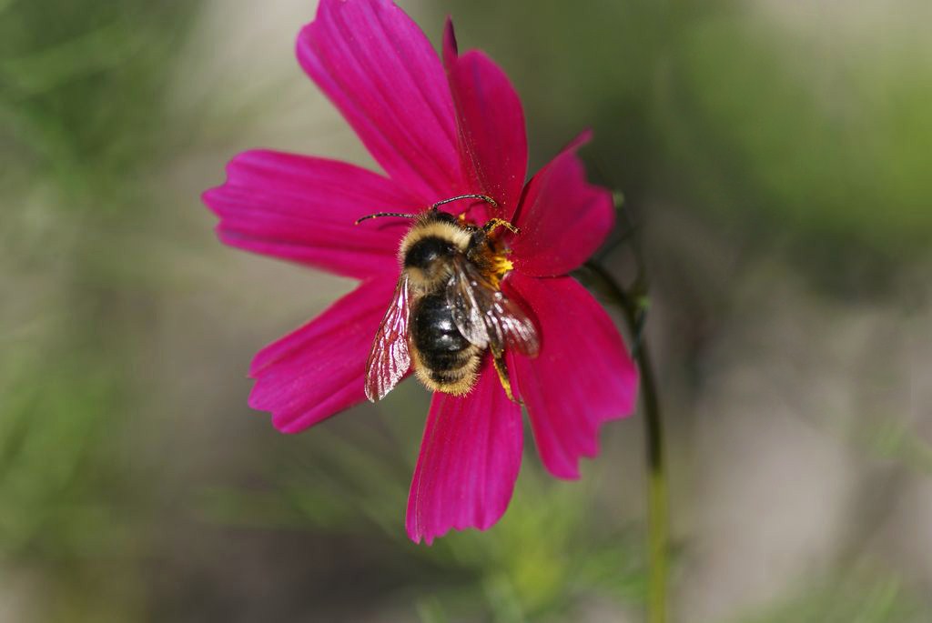
[(487, 350), (505, 394), (514, 400), (505, 350), (528, 357), (540, 350), (533, 321), (500, 290), (512, 263), (496, 234), (500, 227), (515, 235), (519, 231), (502, 219), (478, 226), (438, 210), (467, 198), (498, 206), (489, 196), (461, 195), (419, 214), (379, 212), (356, 221), (384, 216), (414, 220), (399, 246), (401, 277), (365, 366), (365, 395), (373, 402), (384, 398), (412, 367), (433, 391), (467, 394)]

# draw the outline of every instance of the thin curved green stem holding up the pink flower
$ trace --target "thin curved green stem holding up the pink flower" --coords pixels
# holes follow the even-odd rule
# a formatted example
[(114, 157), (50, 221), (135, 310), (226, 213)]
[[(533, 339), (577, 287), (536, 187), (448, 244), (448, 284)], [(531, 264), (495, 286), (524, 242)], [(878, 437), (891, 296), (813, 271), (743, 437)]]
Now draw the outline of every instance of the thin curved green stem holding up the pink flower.
[(634, 339), (632, 355), (640, 372), (641, 403), (644, 408), (644, 443), (647, 460), (648, 539), (651, 561), (648, 584), (648, 621), (666, 621), (667, 574), (667, 485), (666, 455), (664, 449), (664, 423), (660, 413), (660, 400), (653, 376), (651, 351), (647, 339), (641, 334), (645, 305), (640, 297), (632, 296), (618, 284), (601, 265), (586, 263), (586, 268), (605, 288), (613, 303), (624, 312), (624, 320)]

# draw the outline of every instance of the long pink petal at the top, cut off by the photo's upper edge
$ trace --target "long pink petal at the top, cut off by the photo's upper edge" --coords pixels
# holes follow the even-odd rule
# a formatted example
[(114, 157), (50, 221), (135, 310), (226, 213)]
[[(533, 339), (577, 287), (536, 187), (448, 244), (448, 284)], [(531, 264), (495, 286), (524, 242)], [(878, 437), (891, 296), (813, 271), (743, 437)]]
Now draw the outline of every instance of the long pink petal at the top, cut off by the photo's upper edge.
[(395, 182), (423, 205), (458, 194), (444, 69), (402, 9), (387, 0), (322, 0), (298, 35), (297, 58)]

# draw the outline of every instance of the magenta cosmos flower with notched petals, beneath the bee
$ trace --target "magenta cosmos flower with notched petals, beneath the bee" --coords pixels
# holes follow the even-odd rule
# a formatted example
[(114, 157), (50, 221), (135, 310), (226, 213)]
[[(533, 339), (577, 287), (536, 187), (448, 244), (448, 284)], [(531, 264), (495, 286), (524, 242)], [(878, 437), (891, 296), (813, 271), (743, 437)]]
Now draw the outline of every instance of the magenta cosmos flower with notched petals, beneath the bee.
[[(224, 185), (204, 194), (226, 244), (360, 280), (256, 355), (249, 403), (294, 433), (364, 400), (366, 359), (399, 278), (408, 222), (353, 222), (481, 193), (499, 204), (484, 208), (490, 216), (520, 228), (501, 288), (535, 319), (541, 339), (534, 359), (506, 353), (512, 382), (544, 466), (575, 479), (579, 458), (598, 452), (598, 427), (631, 413), (637, 393), (636, 368), (613, 322), (568, 277), (610, 232), (611, 197), (586, 182), (576, 156), (588, 134), (525, 184), (524, 113), (507, 76), (481, 51), (459, 55), (449, 22), (443, 56), (442, 63), (388, 0), (322, 0), (298, 35), (298, 61), (387, 176), (249, 151), (230, 162)], [(491, 366), (466, 396), (435, 393), (408, 498), (408, 535), (431, 543), (450, 528), (484, 530), (498, 521), (522, 445), (521, 407)]]

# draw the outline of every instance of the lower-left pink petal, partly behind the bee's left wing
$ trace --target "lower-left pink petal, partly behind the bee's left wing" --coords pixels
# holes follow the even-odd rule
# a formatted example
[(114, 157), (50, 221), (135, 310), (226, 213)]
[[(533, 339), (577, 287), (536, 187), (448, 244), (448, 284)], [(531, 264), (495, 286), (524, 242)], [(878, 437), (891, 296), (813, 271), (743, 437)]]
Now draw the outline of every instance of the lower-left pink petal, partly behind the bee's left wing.
[(365, 400), (365, 360), (391, 301), (390, 275), (363, 281), (320, 316), (253, 359), (249, 406), (296, 433)]

